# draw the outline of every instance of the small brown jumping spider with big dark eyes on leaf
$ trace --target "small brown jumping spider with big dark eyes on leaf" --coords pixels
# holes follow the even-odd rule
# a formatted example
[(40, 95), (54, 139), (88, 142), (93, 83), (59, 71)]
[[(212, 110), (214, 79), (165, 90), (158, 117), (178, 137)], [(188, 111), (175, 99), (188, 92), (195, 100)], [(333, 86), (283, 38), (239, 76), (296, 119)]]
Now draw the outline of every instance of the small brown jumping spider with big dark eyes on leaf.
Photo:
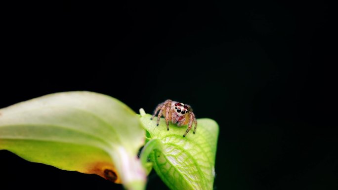
[[(159, 112), (160, 111), (160, 112)], [(185, 131), (183, 137), (187, 135), (190, 131), (193, 122), (195, 123), (194, 134), (197, 128), (197, 120), (195, 114), (192, 112), (192, 109), (189, 105), (182, 104), (179, 102), (174, 102), (171, 100), (166, 100), (165, 102), (159, 104), (151, 119), (157, 115), (157, 126), (159, 126), (160, 118), (163, 115), (166, 118), (167, 130), (169, 130), (169, 121), (176, 123), (178, 126), (188, 124), (188, 129)]]

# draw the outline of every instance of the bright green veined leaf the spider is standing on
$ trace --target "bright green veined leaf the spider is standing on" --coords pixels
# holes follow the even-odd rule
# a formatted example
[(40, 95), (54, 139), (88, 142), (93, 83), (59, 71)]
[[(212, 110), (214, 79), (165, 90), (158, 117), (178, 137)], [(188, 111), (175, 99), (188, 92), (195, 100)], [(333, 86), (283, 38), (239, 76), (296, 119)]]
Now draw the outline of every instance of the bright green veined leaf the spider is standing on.
[(187, 126), (170, 123), (167, 131), (164, 118), (156, 126), (156, 119), (150, 120), (150, 114), (145, 114), (143, 109), (140, 114), (150, 139), (141, 152), (142, 162), (150, 158), (155, 171), (171, 190), (212, 190), (217, 123), (208, 118), (197, 119), (196, 134), (190, 131), (183, 137)]

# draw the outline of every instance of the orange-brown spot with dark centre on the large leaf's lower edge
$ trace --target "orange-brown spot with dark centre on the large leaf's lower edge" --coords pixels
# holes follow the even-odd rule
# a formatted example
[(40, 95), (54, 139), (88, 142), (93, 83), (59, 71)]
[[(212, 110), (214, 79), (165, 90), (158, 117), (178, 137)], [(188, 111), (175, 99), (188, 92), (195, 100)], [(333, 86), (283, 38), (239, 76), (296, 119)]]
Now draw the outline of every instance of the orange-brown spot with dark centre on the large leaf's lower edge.
[(109, 162), (95, 162), (89, 164), (88, 170), (84, 173), (96, 174), (111, 182), (121, 184), (121, 179), (116, 172), (112, 163)]

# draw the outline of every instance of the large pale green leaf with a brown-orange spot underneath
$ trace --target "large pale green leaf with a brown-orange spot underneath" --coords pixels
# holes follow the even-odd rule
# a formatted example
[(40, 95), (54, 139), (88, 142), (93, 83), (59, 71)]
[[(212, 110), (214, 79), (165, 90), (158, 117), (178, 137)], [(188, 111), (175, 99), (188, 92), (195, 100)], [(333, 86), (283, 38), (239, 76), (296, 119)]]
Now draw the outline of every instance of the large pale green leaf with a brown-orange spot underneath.
[(143, 190), (137, 152), (145, 131), (120, 101), (93, 92), (55, 93), (0, 109), (0, 150)]

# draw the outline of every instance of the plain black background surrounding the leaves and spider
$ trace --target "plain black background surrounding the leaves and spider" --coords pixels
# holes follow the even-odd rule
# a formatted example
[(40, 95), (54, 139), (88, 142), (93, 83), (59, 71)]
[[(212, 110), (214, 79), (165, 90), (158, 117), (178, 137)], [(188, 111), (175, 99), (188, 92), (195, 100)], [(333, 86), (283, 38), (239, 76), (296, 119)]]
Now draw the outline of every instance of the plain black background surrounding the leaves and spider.
[[(219, 124), (215, 190), (337, 190), (333, 11), (316, 3), (67, 1), (4, 17), (0, 108), (88, 90)], [(337, 52), (337, 51), (335, 51)], [(122, 189), (0, 151), (0, 189)], [(168, 189), (152, 173), (147, 190)]]

